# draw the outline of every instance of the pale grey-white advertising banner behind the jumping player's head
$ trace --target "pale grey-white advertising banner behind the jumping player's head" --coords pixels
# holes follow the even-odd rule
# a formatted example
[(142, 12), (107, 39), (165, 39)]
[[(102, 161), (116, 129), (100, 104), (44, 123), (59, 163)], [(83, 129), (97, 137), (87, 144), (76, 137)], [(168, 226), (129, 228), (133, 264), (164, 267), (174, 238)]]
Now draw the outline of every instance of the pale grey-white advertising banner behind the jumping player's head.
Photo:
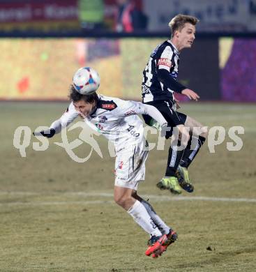
[(167, 31), (179, 13), (196, 16), (197, 31), (256, 31), (256, 0), (144, 0), (149, 31)]

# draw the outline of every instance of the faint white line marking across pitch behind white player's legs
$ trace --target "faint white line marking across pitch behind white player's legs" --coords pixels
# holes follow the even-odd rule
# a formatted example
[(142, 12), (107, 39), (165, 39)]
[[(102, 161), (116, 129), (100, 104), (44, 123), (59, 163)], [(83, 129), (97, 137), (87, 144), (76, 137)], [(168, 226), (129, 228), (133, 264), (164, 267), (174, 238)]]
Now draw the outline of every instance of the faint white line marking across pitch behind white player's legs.
[[(1, 192), (0, 195), (42, 195), (36, 192)], [(59, 195), (70, 195), (70, 196), (83, 196), (83, 197), (113, 197), (112, 193), (108, 192), (64, 192), (52, 194), (52, 196)], [(43, 196), (43, 195), (42, 195)], [(48, 195), (49, 196), (49, 195)], [(145, 199), (150, 199), (153, 202), (169, 202), (169, 201), (191, 201), (191, 200), (201, 200), (201, 201), (213, 201), (213, 202), (250, 202), (256, 203), (254, 198), (234, 198), (234, 197), (172, 197), (165, 195), (142, 195)], [(44, 205), (75, 205), (75, 204), (112, 204), (113, 200), (88, 200), (88, 201), (53, 201), (53, 202), (2, 202), (0, 206), (44, 206)]]

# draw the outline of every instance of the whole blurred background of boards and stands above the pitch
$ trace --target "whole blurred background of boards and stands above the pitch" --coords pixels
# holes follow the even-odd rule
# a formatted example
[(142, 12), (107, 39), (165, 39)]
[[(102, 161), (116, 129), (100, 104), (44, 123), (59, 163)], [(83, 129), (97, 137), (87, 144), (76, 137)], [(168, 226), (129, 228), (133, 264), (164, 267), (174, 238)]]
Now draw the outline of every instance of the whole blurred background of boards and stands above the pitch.
[(256, 101), (256, 0), (0, 0), (0, 99), (67, 100), (96, 68), (100, 93), (140, 100), (151, 51), (178, 13), (200, 22), (179, 80), (202, 100)]

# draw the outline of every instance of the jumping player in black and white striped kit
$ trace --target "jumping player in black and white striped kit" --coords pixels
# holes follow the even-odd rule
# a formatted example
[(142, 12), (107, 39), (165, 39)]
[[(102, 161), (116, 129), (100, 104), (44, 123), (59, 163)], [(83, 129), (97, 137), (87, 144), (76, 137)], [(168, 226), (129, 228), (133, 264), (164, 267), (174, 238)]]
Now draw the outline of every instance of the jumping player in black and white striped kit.
[[(176, 112), (174, 100), (174, 92), (182, 93), (193, 100), (199, 99), (195, 91), (176, 81), (179, 53), (184, 48), (192, 46), (197, 22), (196, 17), (176, 15), (169, 23), (172, 31), (171, 39), (165, 40), (153, 50), (143, 71), (143, 103), (156, 107), (167, 120), (170, 131), (167, 132), (166, 138), (174, 136), (175, 131), (177, 132), (177, 144), (172, 144), (169, 149), (165, 176), (157, 184), (158, 188), (170, 190), (174, 194), (180, 194), (181, 188), (193, 192), (194, 187), (188, 176), (188, 166), (204, 144), (207, 135), (206, 128), (201, 123), (186, 114)], [(143, 117), (149, 126), (154, 126), (156, 123), (148, 115)]]

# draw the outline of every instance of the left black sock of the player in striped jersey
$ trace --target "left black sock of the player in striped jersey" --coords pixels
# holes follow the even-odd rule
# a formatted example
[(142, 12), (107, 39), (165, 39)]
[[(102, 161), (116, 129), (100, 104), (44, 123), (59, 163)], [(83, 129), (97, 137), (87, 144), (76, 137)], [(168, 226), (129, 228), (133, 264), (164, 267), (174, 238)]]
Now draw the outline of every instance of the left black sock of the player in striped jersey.
[[(178, 141), (177, 146), (181, 146), (181, 142)], [(176, 169), (179, 166), (179, 162), (183, 156), (183, 150), (177, 150), (177, 146), (170, 146), (168, 154), (168, 163), (165, 172), (165, 176), (176, 176)]]

